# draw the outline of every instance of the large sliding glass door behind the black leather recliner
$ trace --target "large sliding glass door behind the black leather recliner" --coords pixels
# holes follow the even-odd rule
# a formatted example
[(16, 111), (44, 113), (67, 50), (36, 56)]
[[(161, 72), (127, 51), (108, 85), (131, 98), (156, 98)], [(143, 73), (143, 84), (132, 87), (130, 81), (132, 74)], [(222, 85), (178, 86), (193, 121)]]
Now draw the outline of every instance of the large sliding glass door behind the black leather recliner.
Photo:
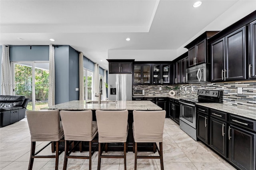
[(28, 110), (48, 107), (49, 62), (12, 62), (13, 95), (29, 99)]

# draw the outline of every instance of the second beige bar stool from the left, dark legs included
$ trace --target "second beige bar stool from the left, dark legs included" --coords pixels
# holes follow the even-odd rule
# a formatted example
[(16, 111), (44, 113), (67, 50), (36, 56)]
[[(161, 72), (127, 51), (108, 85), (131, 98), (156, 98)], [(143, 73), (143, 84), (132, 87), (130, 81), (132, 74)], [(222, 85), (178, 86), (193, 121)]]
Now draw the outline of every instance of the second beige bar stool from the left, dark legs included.
[[(92, 155), (95, 152), (95, 150), (92, 152), (92, 140), (98, 132), (96, 121), (92, 121), (92, 111), (60, 111), (60, 117), (62, 120), (65, 139), (65, 157), (63, 169), (67, 169), (68, 158), (78, 158), (89, 159), (89, 170), (91, 170)], [(71, 150), (69, 151), (69, 146), (73, 143), (73, 141), (78, 142), (75, 145), (72, 145)], [(82, 141), (89, 142), (89, 156), (70, 155), (76, 146)]]

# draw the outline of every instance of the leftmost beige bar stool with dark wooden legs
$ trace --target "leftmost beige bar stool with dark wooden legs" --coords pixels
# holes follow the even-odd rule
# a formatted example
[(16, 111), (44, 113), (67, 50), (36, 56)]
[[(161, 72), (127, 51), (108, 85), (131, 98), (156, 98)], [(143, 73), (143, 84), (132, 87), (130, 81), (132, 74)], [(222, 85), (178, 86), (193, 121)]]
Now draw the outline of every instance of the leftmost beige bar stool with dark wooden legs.
[[(28, 127), (31, 135), (31, 150), (28, 170), (32, 170), (34, 158), (55, 158), (55, 170), (58, 170), (59, 141), (64, 137), (62, 124), (60, 122), (60, 113), (58, 110), (48, 111), (26, 111)], [(46, 146), (35, 153), (36, 142), (50, 141)], [(49, 144), (56, 142), (56, 155), (37, 155)], [(52, 147), (53, 149), (53, 147)], [(54, 152), (54, 150), (52, 150)]]

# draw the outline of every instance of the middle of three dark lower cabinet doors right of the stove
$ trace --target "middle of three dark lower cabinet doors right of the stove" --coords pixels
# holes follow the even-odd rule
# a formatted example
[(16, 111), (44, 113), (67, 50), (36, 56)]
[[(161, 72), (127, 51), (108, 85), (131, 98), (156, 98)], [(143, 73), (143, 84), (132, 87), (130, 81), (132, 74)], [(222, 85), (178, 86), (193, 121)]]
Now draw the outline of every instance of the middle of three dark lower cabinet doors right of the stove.
[(210, 119), (210, 147), (227, 158), (227, 123)]

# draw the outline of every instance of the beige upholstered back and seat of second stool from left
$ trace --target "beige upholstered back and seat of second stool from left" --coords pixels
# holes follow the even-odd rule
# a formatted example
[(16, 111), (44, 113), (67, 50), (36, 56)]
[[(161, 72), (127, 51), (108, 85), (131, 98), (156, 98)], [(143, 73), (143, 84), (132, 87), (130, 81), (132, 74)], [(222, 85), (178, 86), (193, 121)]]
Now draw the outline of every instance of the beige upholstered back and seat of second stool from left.
[(97, 134), (92, 111), (60, 111), (65, 140), (91, 141)]

